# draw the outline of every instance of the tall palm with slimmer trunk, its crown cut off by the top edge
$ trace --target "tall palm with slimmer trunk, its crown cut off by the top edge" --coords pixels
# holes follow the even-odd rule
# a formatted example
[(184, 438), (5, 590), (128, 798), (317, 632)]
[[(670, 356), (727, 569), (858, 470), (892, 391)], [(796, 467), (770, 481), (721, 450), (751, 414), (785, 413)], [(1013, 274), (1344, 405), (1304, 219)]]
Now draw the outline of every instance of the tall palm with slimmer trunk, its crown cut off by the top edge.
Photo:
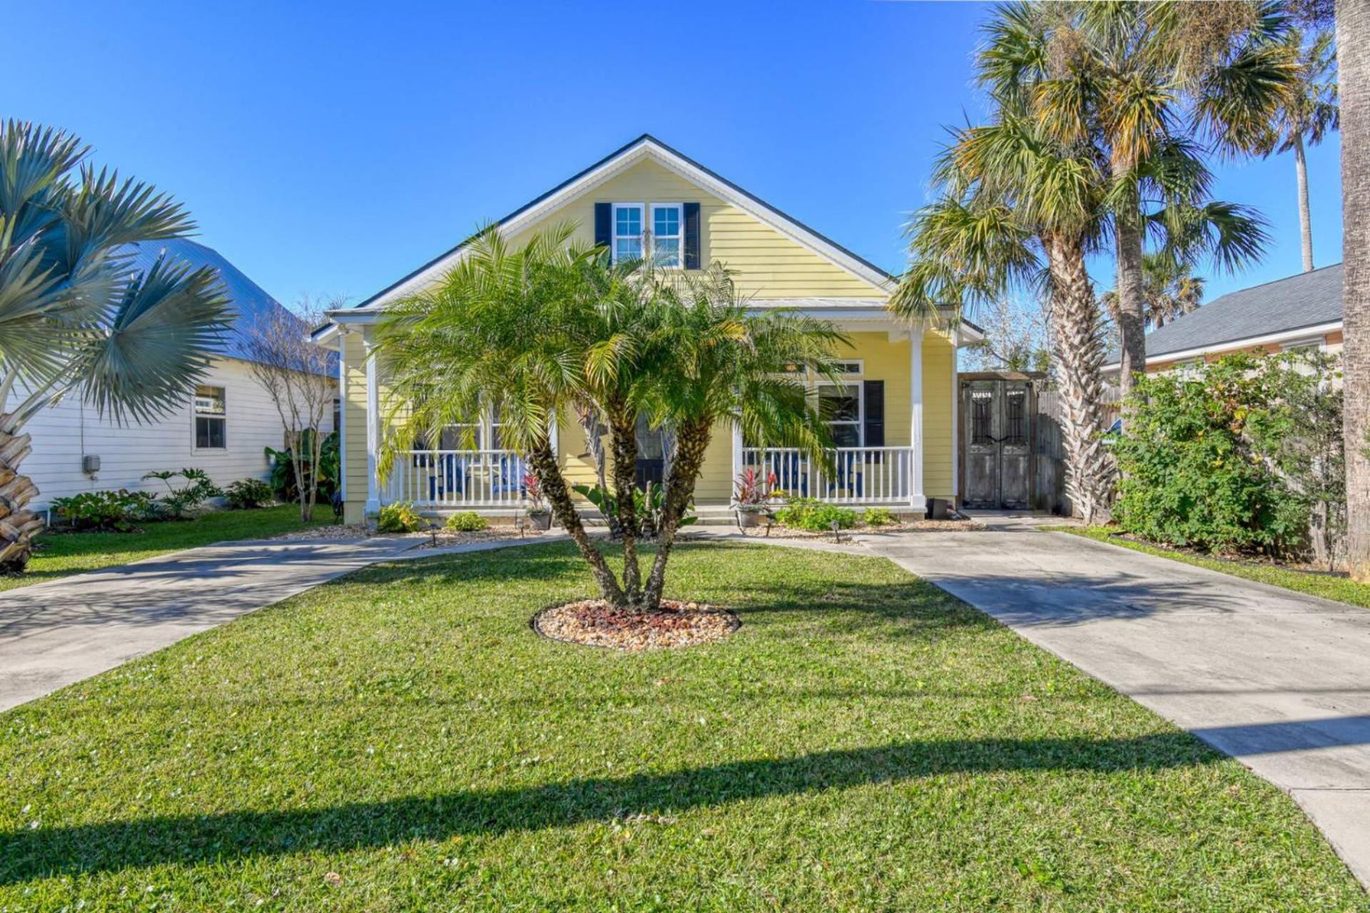
[[(1237, 153), (1266, 134), (1295, 74), (1277, 41), (1286, 19), (1274, 0), (1047, 5), (1037, 52), (1047, 78), (1032, 110), (1060, 142), (1091, 144), (1107, 163), (1126, 397), (1145, 371), (1148, 224), (1158, 208), (1204, 207), (1211, 178), (1197, 137)], [(1229, 263), (1259, 253), (1259, 244), (1238, 246), (1245, 255), (1229, 250)]]

